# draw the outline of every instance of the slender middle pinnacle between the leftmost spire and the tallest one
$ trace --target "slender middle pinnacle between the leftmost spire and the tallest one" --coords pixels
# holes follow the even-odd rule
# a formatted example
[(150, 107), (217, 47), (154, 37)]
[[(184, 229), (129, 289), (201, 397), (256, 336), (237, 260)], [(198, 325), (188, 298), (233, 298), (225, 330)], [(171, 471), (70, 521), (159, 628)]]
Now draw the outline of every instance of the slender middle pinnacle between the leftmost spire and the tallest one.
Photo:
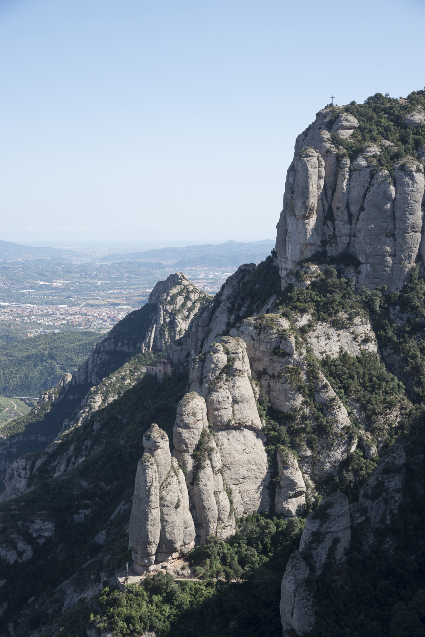
[(208, 429), (203, 397), (191, 392), (177, 407), (173, 456), (183, 469), (196, 536), (200, 545), (208, 536), (227, 540), (236, 528), (234, 513), (222, 478), (222, 461)]

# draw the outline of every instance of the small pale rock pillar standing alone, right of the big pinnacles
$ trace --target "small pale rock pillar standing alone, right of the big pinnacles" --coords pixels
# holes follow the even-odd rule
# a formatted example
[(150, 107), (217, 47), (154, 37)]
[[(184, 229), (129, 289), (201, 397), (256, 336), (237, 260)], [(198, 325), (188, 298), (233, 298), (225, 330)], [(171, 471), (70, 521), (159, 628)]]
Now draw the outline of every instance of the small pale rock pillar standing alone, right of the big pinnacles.
[(276, 513), (285, 517), (295, 517), (298, 508), (305, 505), (305, 483), (299, 471), (298, 462), (289, 449), (280, 448), (277, 452), (279, 482), (276, 487)]

